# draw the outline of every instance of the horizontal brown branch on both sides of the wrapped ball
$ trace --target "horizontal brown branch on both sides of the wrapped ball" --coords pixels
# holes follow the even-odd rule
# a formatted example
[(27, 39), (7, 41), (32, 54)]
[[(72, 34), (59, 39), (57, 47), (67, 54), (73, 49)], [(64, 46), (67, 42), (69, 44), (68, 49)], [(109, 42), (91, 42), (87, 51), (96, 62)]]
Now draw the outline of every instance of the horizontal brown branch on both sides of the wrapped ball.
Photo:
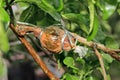
[[(22, 25), (22, 26), (20, 26)], [(31, 31), (34, 32), (35, 37), (37, 37), (39, 35), (39, 33), (41, 32), (41, 28), (34, 28), (31, 25), (25, 25), (25, 24), (18, 24), (18, 30), (22, 27), (22, 30), (20, 31), (20, 35), (25, 35), (27, 32)], [(106, 52), (107, 54), (111, 55), (111, 57), (115, 58), (116, 60), (120, 61), (120, 55), (117, 54), (120, 52), (120, 49), (118, 50), (113, 50), (110, 48), (107, 48), (106, 46), (99, 44), (99, 43), (95, 43), (92, 41), (87, 41), (87, 39), (79, 36), (78, 34), (75, 33), (71, 33), (72, 36), (74, 36), (81, 44), (87, 45), (89, 47), (93, 47), (94, 44), (97, 45), (97, 49), (100, 49), (104, 52)]]

